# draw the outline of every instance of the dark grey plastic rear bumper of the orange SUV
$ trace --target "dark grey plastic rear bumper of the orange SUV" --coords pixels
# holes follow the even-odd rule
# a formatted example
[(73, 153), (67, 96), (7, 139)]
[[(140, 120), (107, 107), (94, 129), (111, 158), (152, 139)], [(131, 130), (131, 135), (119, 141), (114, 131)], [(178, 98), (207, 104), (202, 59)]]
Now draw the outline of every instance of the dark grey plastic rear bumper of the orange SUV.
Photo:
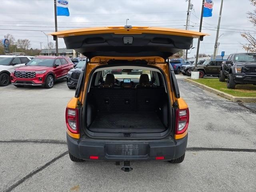
[(188, 135), (179, 140), (104, 141), (74, 139), (67, 134), (69, 152), (84, 160), (90, 156), (106, 161), (148, 161), (156, 160), (157, 156), (172, 160), (185, 153), (187, 142)]

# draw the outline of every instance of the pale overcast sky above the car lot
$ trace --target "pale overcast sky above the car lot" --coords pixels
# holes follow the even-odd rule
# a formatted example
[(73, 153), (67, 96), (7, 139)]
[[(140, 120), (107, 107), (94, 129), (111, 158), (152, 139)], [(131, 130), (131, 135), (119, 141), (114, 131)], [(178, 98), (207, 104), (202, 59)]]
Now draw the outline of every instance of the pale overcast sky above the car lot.
[[(203, 19), (202, 32), (210, 34), (200, 44), (200, 53), (212, 54), (216, 38), (216, 26), (221, 0), (214, 0), (212, 17)], [(202, 0), (192, 0), (190, 30), (199, 30)], [(185, 0), (69, 0), (70, 16), (58, 16), (58, 30), (92, 26), (124, 26), (126, 18), (132, 26), (163, 26), (185, 28)], [(248, 22), (246, 12), (256, 9), (249, 0), (224, 0), (218, 54), (244, 52), (240, 43), (246, 43), (240, 33), (254, 31)], [(23, 31), (22, 31), (23, 30)], [(36, 30), (36, 31), (28, 31)], [(41, 32), (54, 31), (54, 0), (1, 0), (0, 38), (12, 34), (15, 39), (28, 38), (32, 48), (47, 45), (47, 38)], [(52, 40), (52, 36), (49, 36)], [(197, 41), (194, 42), (197, 46)], [(59, 48), (65, 48), (59, 39)], [(196, 54), (193, 49), (188, 57)]]

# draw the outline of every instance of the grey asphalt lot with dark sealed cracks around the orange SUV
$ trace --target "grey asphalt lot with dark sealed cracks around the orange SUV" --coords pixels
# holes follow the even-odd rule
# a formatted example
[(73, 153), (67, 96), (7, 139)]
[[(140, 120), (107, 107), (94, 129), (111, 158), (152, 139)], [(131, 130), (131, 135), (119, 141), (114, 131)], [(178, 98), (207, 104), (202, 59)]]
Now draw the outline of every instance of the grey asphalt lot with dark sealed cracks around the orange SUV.
[(184, 162), (71, 162), (65, 80), (52, 89), (0, 87), (0, 191), (256, 191), (256, 104), (236, 103), (176, 76), (190, 109)]

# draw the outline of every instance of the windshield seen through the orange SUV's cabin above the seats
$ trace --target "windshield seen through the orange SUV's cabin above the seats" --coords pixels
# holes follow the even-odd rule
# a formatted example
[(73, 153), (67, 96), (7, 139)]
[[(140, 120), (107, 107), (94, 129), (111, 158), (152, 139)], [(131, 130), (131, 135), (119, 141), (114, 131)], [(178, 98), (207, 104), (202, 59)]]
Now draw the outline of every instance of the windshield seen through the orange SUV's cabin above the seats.
[(115, 78), (118, 79), (139, 79), (141, 74), (148, 74), (148, 78), (151, 80), (150, 70), (124, 70), (124, 69), (112, 69), (112, 70), (104, 70), (103, 78), (105, 80), (106, 74), (112, 73)]

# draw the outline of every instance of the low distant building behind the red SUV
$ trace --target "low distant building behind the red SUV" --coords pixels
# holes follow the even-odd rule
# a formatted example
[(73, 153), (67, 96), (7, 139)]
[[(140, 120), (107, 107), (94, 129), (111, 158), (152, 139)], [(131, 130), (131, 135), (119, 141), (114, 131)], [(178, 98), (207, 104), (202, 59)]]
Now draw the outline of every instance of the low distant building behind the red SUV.
[[(48, 56), (48, 49), (42, 49), (41, 55)], [(56, 49), (49, 49), (49, 56), (56, 56)], [(82, 54), (76, 52), (75, 50), (66, 48), (59, 48), (57, 56), (66, 56), (70, 58), (83, 57)]]

